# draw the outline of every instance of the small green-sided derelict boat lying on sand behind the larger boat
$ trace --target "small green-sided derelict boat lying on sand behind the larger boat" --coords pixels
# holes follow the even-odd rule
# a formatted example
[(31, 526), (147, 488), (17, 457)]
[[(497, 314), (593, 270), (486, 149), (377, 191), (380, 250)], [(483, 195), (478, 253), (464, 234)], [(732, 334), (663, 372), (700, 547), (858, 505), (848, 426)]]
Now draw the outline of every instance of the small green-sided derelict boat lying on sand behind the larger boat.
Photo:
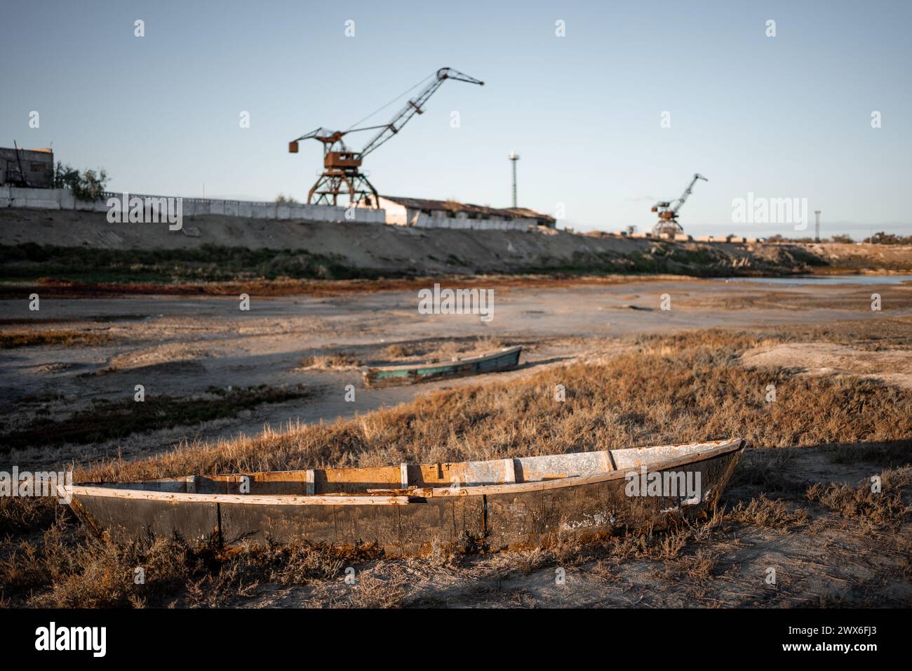
[(484, 372), (509, 371), (519, 363), (522, 347), (504, 347), (498, 351), (448, 362), (409, 363), (407, 365), (365, 366), (364, 385), (386, 387), (394, 384), (430, 382), (462, 375), (480, 375)]

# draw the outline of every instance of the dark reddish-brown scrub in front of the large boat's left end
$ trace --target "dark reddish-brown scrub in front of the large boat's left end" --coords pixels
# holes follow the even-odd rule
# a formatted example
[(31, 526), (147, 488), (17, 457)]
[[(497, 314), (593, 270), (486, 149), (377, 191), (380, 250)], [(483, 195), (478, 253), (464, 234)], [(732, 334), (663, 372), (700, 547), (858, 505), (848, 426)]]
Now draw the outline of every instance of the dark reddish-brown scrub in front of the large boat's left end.
[[(115, 545), (58, 517), (38, 540), (24, 540), (0, 559), (0, 591), (42, 608), (220, 606), (260, 582), (306, 585), (334, 580), (347, 566), (371, 561), (370, 547), (329, 549), (307, 543), (222, 554), (213, 543), (138, 539)], [(136, 569), (142, 580), (136, 582)], [(48, 584), (53, 589), (38, 590)]]

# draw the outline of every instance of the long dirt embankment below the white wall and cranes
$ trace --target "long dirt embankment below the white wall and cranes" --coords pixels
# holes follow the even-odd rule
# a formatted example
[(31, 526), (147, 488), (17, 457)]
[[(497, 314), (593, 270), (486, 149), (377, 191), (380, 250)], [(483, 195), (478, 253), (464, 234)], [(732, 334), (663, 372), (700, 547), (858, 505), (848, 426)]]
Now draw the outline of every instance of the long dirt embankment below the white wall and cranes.
[[(394, 225), (186, 217), (109, 224), (103, 214), (0, 211), (6, 278), (83, 277), (87, 268), (171, 278), (377, 278), (472, 273), (673, 273), (700, 277), (912, 269), (912, 246), (669, 242), (540, 229), (468, 231)], [(140, 254), (145, 252), (146, 254)], [(149, 254), (153, 252), (154, 254)], [(159, 277), (161, 276), (161, 277)], [(191, 277), (193, 276), (193, 277)]]

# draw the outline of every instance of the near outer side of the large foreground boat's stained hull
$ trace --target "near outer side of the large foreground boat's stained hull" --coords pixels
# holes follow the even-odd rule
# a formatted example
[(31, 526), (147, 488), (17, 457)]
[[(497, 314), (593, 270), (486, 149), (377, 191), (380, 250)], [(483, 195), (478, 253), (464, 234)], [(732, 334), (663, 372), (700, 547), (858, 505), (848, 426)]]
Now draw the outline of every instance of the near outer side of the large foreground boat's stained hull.
[[(77, 486), (71, 507), (91, 529), (115, 541), (177, 534), (194, 543), (214, 542), (228, 548), (267, 541), (374, 544), (388, 556), (422, 554), (434, 548), (521, 549), (547, 545), (562, 536), (589, 540), (618, 529), (656, 529), (673, 518), (698, 516), (718, 501), (744, 443), (736, 440), (700, 458), (678, 456), (647, 467), (648, 473), (658, 473), (660, 481), (670, 474), (671, 479), (689, 477), (701, 483), (697, 498), (684, 491), (650, 496), (645, 488), (631, 495), (634, 476), (642, 479), (646, 466), (628, 460), (605, 473), (580, 477), (412, 488), (407, 494), (393, 491), (371, 497), (344, 492), (276, 497)], [(625, 456), (627, 451), (612, 452)], [(522, 465), (523, 460), (501, 461)]]

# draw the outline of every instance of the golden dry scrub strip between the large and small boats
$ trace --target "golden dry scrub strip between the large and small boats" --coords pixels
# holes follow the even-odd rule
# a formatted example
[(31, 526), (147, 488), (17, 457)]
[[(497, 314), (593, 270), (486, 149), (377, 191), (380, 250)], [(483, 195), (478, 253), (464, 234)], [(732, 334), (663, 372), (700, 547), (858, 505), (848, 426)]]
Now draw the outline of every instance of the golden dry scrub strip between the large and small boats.
[[(901, 442), (912, 393), (871, 381), (752, 371), (737, 365), (752, 337), (707, 331), (641, 339), (598, 364), (575, 363), (511, 383), (440, 391), (327, 425), (86, 467), (88, 479), (143, 479), (306, 467), (482, 460), (618, 449), (739, 435), (763, 449)], [(777, 401), (764, 395), (775, 384)], [(564, 384), (566, 401), (554, 403)]]

